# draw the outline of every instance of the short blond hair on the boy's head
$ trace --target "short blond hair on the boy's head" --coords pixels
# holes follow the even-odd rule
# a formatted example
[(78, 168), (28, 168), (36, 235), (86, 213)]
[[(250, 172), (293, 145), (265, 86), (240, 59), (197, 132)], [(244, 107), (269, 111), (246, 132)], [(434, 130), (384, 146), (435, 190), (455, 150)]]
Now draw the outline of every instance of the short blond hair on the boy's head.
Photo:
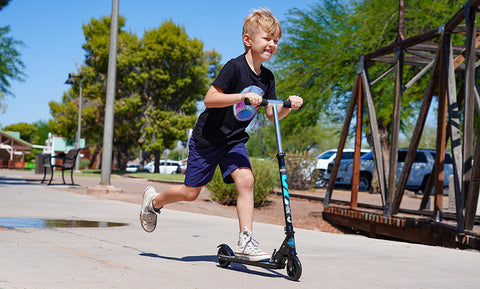
[(243, 20), (243, 32), (255, 37), (256, 33), (262, 29), (265, 33), (273, 38), (280, 39), (282, 37), (282, 28), (277, 18), (268, 8), (253, 9), (252, 12)]

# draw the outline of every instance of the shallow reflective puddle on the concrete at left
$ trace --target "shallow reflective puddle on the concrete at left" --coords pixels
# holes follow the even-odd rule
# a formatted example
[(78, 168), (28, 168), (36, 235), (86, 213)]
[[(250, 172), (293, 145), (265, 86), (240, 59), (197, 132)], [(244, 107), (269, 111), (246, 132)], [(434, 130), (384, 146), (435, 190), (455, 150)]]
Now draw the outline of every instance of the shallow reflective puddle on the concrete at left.
[(49, 220), (26, 218), (0, 218), (0, 227), (27, 228), (105, 228), (126, 226), (125, 223), (97, 222), (85, 220)]

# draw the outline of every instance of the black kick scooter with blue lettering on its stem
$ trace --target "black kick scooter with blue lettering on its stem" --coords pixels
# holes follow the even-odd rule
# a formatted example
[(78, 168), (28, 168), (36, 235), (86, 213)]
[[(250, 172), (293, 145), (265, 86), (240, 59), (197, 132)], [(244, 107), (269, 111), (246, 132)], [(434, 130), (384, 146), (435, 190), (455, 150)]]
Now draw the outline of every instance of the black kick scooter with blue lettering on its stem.
[[(249, 104), (248, 99), (245, 104)], [(290, 101), (263, 99), (261, 106), (271, 106), (273, 109), (273, 118), (275, 125), (275, 134), (277, 138), (277, 160), (280, 171), (280, 182), (283, 193), (283, 210), (285, 213), (285, 239), (283, 240), (280, 249), (274, 250), (272, 256), (268, 261), (250, 261), (235, 256), (233, 250), (226, 244), (218, 246), (217, 260), (222, 268), (227, 268), (231, 262), (245, 265), (258, 266), (269, 269), (283, 269), (287, 267), (288, 277), (297, 281), (302, 275), (302, 264), (297, 257), (295, 249), (295, 238), (292, 224), (292, 212), (290, 209), (290, 195), (288, 193), (287, 170), (285, 168), (285, 153), (282, 149), (282, 138), (280, 135), (280, 124), (278, 119), (277, 107), (291, 107)]]

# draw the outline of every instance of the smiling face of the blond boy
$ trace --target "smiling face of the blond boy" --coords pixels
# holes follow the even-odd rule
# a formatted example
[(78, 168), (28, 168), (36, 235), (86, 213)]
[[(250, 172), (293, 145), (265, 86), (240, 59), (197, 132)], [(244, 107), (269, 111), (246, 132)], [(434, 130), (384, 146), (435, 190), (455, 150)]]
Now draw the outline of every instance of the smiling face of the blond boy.
[(274, 38), (260, 29), (253, 38), (245, 34), (244, 43), (250, 47), (252, 56), (259, 57), (262, 61), (267, 61), (277, 51), (278, 38)]

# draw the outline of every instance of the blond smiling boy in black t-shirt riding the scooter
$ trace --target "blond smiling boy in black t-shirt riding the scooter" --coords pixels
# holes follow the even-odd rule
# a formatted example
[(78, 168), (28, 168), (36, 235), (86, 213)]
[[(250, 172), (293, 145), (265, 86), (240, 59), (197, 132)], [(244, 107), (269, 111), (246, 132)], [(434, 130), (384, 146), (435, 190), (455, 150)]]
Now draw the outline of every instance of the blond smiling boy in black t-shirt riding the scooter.
[[(269, 9), (254, 10), (243, 24), (245, 53), (230, 60), (220, 71), (205, 96), (205, 111), (199, 116), (189, 143), (188, 165), (183, 185), (173, 185), (158, 193), (151, 186), (145, 188), (140, 211), (143, 229), (153, 232), (160, 209), (178, 201), (194, 201), (202, 186), (212, 180), (215, 168), (220, 166), (225, 183), (235, 183), (238, 192), (237, 215), (239, 240), (235, 254), (252, 261), (270, 258), (253, 240), (253, 174), (245, 143), (245, 129), (251, 122), (262, 96), (276, 99), (273, 73), (263, 67), (277, 51), (281, 28)], [(248, 99), (250, 107), (243, 105)], [(288, 98), (292, 108), (278, 108), (279, 118), (291, 109), (299, 109), (303, 100), (295, 95)], [(271, 107), (265, 108), (273, 121)]]

